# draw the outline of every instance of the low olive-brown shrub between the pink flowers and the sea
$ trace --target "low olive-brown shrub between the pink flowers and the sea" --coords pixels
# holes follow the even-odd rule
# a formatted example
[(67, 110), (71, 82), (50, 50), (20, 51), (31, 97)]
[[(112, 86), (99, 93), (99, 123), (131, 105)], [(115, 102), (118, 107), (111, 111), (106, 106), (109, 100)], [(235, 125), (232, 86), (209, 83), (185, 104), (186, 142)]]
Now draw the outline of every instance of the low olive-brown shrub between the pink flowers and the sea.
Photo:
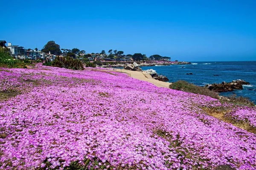
[(201, 94), (204, 96), (210, 96), (212, 98), (219, 99), (217, 92), (210, 91), (207, 88), (196, 86), (192, 83), (188, 83), (183, 80), (179, 80), (177, 82), (170, 84), (169, 88), (179, 90), (179, 91), (186, 91), (186, 92), (194, 93), (194, 94)]

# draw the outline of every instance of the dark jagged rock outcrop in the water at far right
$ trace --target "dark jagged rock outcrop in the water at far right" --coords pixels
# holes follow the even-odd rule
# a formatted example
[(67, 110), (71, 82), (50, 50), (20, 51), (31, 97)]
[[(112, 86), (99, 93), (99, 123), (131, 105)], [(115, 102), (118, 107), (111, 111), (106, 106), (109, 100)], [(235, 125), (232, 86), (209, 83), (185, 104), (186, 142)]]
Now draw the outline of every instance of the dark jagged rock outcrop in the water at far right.
[(227, 92), (227, 91), (233, 91), (234, 89), (241, 90), (243, 89), (242, 85), (250, 85), (250, 83), (241, 79), (237, 79), (228, 83), (227, 82), (222, 82), (219, 84), (214, 83), (212, 85), (205, 85), (204, 87), (212, 91)]

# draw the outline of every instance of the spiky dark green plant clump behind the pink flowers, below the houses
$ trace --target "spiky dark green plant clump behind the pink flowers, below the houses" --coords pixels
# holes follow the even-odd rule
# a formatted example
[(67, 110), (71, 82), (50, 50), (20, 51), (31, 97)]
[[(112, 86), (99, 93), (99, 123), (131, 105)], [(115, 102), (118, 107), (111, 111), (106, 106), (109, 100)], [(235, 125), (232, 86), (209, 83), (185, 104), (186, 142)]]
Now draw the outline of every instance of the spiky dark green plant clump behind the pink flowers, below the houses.
[(57, 57), (52, 62), (53, 67), (60, 67), (60, 68), (68, 68), (73, 70), (83, 70), (84, 65), (78, 59), (73, 59), (72, 57)]

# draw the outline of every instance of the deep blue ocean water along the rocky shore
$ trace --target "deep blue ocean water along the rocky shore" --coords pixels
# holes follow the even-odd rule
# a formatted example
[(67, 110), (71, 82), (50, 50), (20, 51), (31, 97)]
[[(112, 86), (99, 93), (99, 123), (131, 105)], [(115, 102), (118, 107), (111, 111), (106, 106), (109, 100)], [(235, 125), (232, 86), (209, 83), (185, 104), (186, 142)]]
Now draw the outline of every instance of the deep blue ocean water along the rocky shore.
[[(185, 80), (199, 86), (243, 79), (250, 82), (250, 85), (243, 85), (243, 90), (223, 92), (220, 95), (236, 94), (237, 96), (248, 97), (256, 103), (256, 61), (192, 62), (191, 65), (145, 66), (141, 68), (143, 70), (152, 68), (158, 74), (168, 77), (169, 82)], [(187, 73), (193, 74), (187, 75)]]

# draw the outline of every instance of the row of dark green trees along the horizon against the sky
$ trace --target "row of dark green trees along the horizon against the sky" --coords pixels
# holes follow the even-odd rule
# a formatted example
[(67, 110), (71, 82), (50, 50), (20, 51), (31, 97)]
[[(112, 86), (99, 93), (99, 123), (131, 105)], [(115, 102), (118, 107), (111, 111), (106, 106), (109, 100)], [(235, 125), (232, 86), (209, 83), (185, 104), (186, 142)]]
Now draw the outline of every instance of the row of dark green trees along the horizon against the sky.
[[(92, 54), (106, 54), (105, 50), (102, 50), (100, 53), (91, 53), (91, 54), (86, 54), (85, 50), (79, 50), (78, 48), (73, 48), (73, 49), (65, 49), (65, 48), (60, 48), (60, 45), (56, 44), (55, 41), (49, 41), (47, 42), (46, 45), (44, 45), (44, 48), (41, 50), (45, 53), (48, 53), (49, 51), (51, 54), (54, 55), (63, 55), (64, 57), (73, 57), (76, 58), (76, 55), (78, 57), (83, 57), (87, 58), (85, 60), (88, 60), (88, 57), (91, 57)], [(125, 57), (131, 57), (135, 61), (140, 61), (140, 60), (161, 60), (161, 59), (171, 59), (171, 57), (163, 57), (158, 54), (151, 55), (150, 57), (147, 57), (145, 54), (141, 53), (135, 53), (135, 54), (124, 54), (124, 51), (117, 51), (110, 49), (108, 51), (108, 58), (110, 59), (116, 59), (116, 60), (121, 60)]]

